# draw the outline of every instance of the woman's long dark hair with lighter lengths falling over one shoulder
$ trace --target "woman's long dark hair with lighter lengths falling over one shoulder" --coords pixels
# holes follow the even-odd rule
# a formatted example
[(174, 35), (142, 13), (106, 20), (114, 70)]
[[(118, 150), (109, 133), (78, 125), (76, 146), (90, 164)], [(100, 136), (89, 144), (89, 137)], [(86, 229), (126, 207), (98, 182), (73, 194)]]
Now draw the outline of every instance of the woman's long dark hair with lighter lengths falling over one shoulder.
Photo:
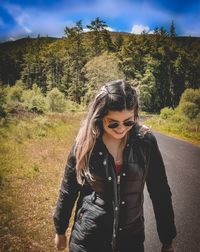
[(133, 110), (134, 121), (138, 120), (138, 97), (136, 91), (124, 80), (105, 84), (88, 107), (88, 113), (76, 137), (75, 156), (77, 180), (92, 180), (89, 160), (96, 139), (103, 133), (102, 119), (108, 111)]

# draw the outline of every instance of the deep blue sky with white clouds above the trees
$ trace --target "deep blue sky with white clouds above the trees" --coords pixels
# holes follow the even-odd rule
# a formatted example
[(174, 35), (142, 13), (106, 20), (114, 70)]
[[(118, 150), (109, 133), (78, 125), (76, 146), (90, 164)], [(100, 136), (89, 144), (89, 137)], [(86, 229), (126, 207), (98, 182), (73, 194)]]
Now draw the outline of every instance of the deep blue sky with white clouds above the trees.
[(0, 0), (0, 39), (62, 37), (65, 26), (96, 17), (110, 30), (135, 34), (169, 30), (174, 20), (179, 36), (200, 37), (200, 0)]

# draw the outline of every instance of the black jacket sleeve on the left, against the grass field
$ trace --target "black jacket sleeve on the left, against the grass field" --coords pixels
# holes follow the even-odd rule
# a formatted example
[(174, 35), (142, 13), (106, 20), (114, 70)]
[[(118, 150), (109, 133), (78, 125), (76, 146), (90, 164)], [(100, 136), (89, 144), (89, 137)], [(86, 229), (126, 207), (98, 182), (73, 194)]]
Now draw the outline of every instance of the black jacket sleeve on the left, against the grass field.
[(76, 179), (75, 165), (76, 159), (73, 147), (67, 159), (64, 177), (61, 183), (60, 194), (53, 215), (57, 234), (64, 234), (66, 232), (72, 209), (80, 190), (80, 185)]

